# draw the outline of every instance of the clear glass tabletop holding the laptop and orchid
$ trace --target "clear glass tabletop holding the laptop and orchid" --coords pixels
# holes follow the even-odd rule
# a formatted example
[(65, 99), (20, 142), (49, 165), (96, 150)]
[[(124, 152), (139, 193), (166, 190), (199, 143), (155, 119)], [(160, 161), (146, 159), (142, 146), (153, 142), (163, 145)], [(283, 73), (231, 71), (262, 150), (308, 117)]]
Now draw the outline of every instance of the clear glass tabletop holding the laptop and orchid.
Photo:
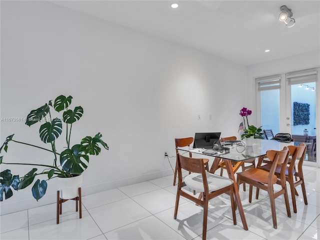
[[(176, 149), (182, 151), (190, 151), (192, 153), (221, 157), (224, 159), (243, 161), (250, 158), (255, 158), (265, 155), (266, 151), (272, 150), (282, 150), (284, 146), (294, 145), (297, 142), (279, 142), (276, 140), (265, 140), (265, 139), (253, 139), (252, 146), (245, 145), (245, 141), (233, 143), (228, 145), (226, 149), (213, 150), (213, 149), (203, 149), (203, 148), (184, 148), (177, 147)], [(192, 155), (193, 156), (193, 155)], [(194, 157), (194, 156), (193, 156)]]

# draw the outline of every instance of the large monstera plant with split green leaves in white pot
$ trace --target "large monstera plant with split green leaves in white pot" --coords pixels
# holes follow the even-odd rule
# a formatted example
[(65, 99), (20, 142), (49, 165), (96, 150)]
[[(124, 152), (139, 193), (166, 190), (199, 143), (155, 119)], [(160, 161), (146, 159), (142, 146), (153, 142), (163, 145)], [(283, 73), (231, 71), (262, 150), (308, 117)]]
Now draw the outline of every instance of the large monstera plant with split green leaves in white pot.
[[(50, 100), (39, 108), (31, 110), (26, 117), (25, 124), (28, 126), (37, 122), (44, 122), (40, 125), (39, 136), (42, 142), (50, 145), (49, 149), (15, 140), (13, 138), (14, 134), (6, 137), (4, 143), (0, 147), (0, 153), (2, 149), (7, 152), (9, 142), (20, 143), (52, 152), (53, 162), (51, 162), (51, 164), (24, 161), (5, 162), (3, 155), (0, 155), (0, 164), (30, 165), (33, 167), (23, 176), (19, 176), (18, 174), (12, 175), (10, 169), (5, 169), (0, 172), (0, 201), (3, 200), (3, 194), (5, 199), (7, 199), (13, 195), (12, 189), (23, 189), (29, 186), (33, 181), (35, 182), (31, 188), (32, 195), (38, 200), (45, 194), (47, 181), (49, 179), (53, 177), (72, 177), (79, 175), (87, 168), (89, 155), (98, 155), (100, 153), (101, 148), (99, 145), (107, 150), (109, 149), (107, 144), (101, 139), (101, 133), (97, 133), (93, 137), (86, 136), (81, 139), (79, 144), (70, 147), (72, 124), (79, 120), (83, 114), (83, 108), (81, 106), (76, 106), (73, 110), (68, 109), (71, 104), (71, 99), (72, 96), (65, 97), (64, 95), (60, 95), (55, 98), (53, 105)], [(53, 110), (58, 113), (64, 110), (62, 117), (53, 118), (51, 115), (51, 111)], [(55, 141), (61, 136), (62, 129), (65, 129), (66, 145), (63, 148), (63, 151), (58, 152), (56, 150)], [(45, 159), (44, 161), (50, 162), (51, 160)], [(41, 167), (41, 169), (38, 170), (36, 167)], [(39, 175), (42, 175), (42, 178), (45, 178), (45, 180), (36, 179)], [(45, 177), (43, 177), (43, 175)]]

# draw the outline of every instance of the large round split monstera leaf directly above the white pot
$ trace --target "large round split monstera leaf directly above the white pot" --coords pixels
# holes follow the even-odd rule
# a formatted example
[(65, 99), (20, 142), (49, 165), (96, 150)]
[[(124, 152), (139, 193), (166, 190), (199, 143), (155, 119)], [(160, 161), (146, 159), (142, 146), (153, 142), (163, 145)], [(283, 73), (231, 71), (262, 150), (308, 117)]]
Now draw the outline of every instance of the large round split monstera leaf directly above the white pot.
[(81, 174), (89, 163), (89, 156), (81, 154), (80, 144), (65, 149), (60, 154), (62, 169), (71, 174)]

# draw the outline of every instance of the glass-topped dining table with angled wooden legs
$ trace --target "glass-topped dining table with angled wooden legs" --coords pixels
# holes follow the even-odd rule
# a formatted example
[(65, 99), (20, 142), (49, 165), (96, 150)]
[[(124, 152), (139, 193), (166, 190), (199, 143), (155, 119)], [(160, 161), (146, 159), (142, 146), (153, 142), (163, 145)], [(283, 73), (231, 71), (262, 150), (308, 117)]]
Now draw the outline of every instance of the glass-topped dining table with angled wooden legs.
[[(242, 203), (239, 196), (239, 189), (236, 184), (236, 179), (234, 176), (233, 168), (231, 165), (231, 161), (237, 161), (240, 165), (242, 161), (247, 159), (256, 158), (259, 156), (265, 155), (268, 149), (273, 150), (282, 150), (284, 146), (294, 144), (294, 142), (279, 142), (276, 140), (265, 140), (265, 139), (253, 139), (252, 146), (245, 145), (245, 142), (238, 141), (234, 142), (232, 145), (221, 146), (218, 150), (213, 149), (203, 149), (203, 148), (186, 148), (186, 147), (177, 147), (176, 149), (184, 152), (192, 152), (192, 154), (200, 154), (206, 156), (214, 157), (212, 165), (209, 169), (211, 173), (214, 173), (218, 168), (218, 164), (221, 159), (224, 160), (225, 168), (227, 170), (228, 176), (233, 180), (233, 188), (234, 188), (234, 198), (236, 205), (238, 207), (239, 215), (241, 217), (241, 221), (243, 224), (243, 228), (245, 230), (248, 229), (246, 219), (243, 212)], [(194, 156), (193, 156), (194, 157)]]

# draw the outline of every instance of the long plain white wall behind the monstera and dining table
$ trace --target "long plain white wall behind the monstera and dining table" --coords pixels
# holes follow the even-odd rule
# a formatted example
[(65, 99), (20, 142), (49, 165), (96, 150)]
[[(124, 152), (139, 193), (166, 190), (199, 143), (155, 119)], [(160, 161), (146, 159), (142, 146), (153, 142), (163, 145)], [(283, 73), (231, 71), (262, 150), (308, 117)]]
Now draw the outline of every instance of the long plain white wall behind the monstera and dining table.
[[(72, 144), (101, 132), (110, 147), (90, 158), (83, 195), (172, 174), (163, 152), (175, 154), (175, 137), (237, 134), (245, 81), (245, 67), (191, 48), (46, 1), (1, 1), (0, 117), (23, 118), (59, 94), (73, 96), (84, 114), (73, 125)], [(1, 143), (15, 133), (16, 140), (41, 145), (39, 124), (0, 124)], [(52, 159), (13, 142), (3, 157)], [(174, 167), (175, 157), (170, 162)], [(10, 168), (20, 175), (31, 169)], [(56, 189), (50, 180), (38, 202), (30, 187), (14, 191), (1, 202), (1, 214), (54, 202)]]

